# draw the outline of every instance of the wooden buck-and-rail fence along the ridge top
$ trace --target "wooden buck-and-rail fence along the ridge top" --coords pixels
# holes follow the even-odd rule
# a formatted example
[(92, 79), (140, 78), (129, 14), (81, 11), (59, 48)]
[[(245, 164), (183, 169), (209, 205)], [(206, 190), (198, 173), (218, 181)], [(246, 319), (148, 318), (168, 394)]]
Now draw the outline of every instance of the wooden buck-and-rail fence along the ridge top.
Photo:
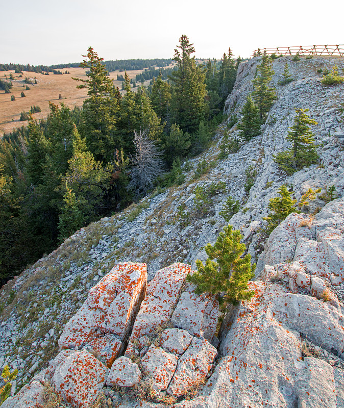
[(258, 48), (253, 56), (258, 55), (336, 55), (344, 57), (344, 45), (298, 45), (293, 47)]

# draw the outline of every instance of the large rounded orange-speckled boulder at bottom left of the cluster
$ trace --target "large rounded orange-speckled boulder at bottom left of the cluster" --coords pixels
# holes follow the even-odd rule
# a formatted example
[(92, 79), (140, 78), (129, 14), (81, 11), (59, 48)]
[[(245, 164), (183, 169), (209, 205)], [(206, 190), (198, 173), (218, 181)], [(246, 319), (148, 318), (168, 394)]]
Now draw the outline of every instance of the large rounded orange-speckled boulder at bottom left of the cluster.
[(109, 369), (86, 350), (69, 353), (52, 376), (52, 385), (64, 401), (88, 408), (105, 385)]

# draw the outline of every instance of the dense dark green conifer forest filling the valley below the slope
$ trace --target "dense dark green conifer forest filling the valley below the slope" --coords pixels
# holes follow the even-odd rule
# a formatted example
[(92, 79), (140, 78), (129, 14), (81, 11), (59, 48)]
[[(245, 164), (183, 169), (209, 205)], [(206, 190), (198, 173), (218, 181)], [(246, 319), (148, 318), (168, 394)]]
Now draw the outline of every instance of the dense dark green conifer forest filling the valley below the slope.
[(76, 230), (147, 192), (181, 182), (181, 164), (205, 149), (231, 92), (240, 58), (198, 64), (182, 35), (176, 68), (121, 95), (92, 47), (81, 67), (82, 109), (50, 114), (0, 141), (0, 279), (5, 283)]

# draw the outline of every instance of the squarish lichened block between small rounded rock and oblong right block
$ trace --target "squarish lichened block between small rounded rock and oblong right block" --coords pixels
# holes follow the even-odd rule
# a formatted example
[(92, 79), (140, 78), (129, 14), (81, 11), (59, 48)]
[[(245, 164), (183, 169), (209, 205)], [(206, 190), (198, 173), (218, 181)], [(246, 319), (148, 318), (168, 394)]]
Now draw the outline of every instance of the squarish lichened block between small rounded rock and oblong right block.
[(175, 373), (178, 357), (175, 354), (166, 353), (161, 347), (153, 344), (143, 356), (141, 363), (144, 370), (153, 380), (153, 388), (156, 391), (164, 391)]

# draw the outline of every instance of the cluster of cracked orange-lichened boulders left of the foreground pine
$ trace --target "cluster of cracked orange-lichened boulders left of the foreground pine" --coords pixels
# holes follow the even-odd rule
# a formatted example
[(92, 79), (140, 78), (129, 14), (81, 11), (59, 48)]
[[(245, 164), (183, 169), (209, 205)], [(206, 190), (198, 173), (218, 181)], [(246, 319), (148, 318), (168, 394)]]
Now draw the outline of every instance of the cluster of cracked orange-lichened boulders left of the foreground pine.
[[(49, 367), (5, 406), (21, 401), (35, 406), (47, 383), (77, 408), (87, 408), (105, 386), (140, 387), (145, 380), (157, 396), (181, 397), (202, 384), (217, 355), (202, 335), (214, 336), (218, 302), (194, 294), (185, 282), (189, 273), (189, 265), (177, 263), (159, 270), (147, 286), (145, 264), (116, 265), (66, 324), (59, 339), (62, 350)], [(199, 324), (180, 318), (194, 311)]]

